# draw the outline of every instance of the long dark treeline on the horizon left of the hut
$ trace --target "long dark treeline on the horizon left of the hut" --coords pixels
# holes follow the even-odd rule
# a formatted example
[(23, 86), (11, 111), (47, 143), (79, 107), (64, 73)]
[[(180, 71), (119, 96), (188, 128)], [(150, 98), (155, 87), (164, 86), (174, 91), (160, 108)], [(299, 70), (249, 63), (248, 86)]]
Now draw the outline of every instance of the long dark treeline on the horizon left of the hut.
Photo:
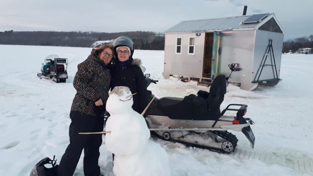
[(96, 41), (130, 37), (135, 49), (164, 50), (164, 34), (150, 31), (132, 32), (55, 32), (55, 31), (4, 31), (0, 32), (0, 44), (90, 47)]

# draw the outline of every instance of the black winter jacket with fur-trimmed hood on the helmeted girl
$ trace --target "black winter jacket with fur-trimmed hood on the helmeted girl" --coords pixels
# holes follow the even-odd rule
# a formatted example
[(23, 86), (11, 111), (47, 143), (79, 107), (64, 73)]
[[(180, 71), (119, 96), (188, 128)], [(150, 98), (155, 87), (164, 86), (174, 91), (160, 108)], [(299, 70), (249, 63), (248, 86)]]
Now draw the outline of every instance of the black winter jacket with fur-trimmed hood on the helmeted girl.
[(117, 60), (111, 68), (111, 91), (115, 86), (127, 86), (131, 93), (137, 93), (133, 96), (133, 110), (139, 114), (148, 105), (146, 80), (142, 73), (140, 59), (130, 58), (125, 63)]

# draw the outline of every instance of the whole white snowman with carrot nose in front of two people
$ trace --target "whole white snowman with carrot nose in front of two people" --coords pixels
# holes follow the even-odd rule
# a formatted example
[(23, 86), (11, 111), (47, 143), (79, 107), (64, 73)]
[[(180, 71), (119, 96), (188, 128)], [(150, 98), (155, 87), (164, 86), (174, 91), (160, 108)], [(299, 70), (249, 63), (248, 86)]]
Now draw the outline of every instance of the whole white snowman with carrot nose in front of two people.
[(128, 87), (115, 87), (109, 94), (106, 110), (110, 113), (105, 131), (107, 149), (115, 154), (115, 176), (170, 176), (168, 156), (149, 140), (150, 131), (143, 116), (134, 111)]

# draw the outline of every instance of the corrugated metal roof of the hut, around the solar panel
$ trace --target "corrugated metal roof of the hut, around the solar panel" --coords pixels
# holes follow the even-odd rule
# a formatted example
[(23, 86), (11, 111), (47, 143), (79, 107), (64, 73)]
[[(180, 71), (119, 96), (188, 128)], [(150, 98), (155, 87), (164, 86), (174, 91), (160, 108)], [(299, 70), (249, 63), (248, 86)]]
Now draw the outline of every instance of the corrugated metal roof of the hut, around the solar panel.
[[(271, 13), (272, 14), (272, 13)], [(271, 15), (269, 14), (269, 15)], [(263, 19), (267, 21), (269, 15)], [(223, 29), (239, 29), (239, 28), (255, 28), (259, 23), (243, 24), (245, 19), (251, 15), (227, 17), (227, 18), (213, 18), (182, 21), (165, 32), (187, 32), (187, 31), (208, 31), (208, 30), (223, 30)]]

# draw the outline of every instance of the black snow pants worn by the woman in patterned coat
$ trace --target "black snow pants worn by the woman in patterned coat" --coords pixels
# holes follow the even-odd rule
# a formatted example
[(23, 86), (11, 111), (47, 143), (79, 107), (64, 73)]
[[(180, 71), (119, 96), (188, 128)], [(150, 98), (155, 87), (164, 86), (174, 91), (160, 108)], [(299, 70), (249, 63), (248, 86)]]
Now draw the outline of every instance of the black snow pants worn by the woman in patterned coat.
[(100, 175), (98, 159), (99, 148), (102, 143), (102, 134), (78, 134), (79, 132), (102, 132), (104, 118), (71, 111), (72, 120), (69, 125), (69, 146), (61, 158), (58, 176), (72, 176), (80, 155), (84, 149), (85, 176)]

